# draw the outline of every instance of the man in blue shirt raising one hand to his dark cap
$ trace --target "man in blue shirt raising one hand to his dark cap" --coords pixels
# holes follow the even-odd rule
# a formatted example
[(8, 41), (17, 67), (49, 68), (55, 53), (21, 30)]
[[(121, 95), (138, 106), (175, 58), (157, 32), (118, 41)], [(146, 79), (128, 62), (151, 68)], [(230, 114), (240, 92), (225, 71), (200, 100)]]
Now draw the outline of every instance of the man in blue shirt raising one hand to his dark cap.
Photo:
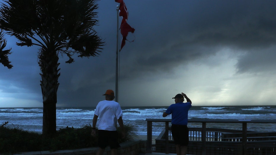
[[(184, 98), (187, 100), (183, 103)], [(171, 114), (171, 133), (174, 138), (175, 150), (177, 155), (185, 155), (189, 143), (188, 111), (192, 107), (192, 101), (186, 94), (181, 93), (173, 97), (175, 104), (171, 104), (163, 117)]]

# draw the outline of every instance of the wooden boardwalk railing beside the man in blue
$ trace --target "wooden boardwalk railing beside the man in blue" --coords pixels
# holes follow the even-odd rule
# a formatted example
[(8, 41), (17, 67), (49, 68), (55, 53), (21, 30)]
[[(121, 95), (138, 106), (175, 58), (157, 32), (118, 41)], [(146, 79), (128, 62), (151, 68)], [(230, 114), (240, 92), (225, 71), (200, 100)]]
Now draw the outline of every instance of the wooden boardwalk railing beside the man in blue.
[[(147, 121), (147, 152), (157, 151), (161, 148), (166, 154), (175, 153), (169, 123), (171, 119), (146, 119)], [(152, 143), (153, 122), (165, 122), (165, 130)], [(191, 128), (190, 123), (201, 123), (201, 128)], [(237, 123), (242, 130), (206, 128), (206, 123)], [(275, 154), (276, 131), (270, 133), (257, 133), (247, 131), (248, 123), (273, 123), (276, 120), (222, 120), (222, 119), (189, 119), (188, 151), (190, 154)], [(161, 145), (162, 144), (162, 145)], [(160, 145), (160, 146), (158, 146)], [(157, 147), (156, 147), (157, 146)], [(159, 147), (159, 148), (158, 148)], [(156, 150), (154, 150), (156, 151)], [(188, 152), (189, 153), (189, 152)]]

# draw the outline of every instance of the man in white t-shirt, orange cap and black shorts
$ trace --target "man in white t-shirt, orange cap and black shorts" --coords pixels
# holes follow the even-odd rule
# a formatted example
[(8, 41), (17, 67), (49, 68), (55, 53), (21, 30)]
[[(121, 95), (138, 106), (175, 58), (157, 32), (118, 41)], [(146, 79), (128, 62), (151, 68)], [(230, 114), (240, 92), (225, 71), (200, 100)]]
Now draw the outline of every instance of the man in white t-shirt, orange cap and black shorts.
[(125, 137), (122, 119), (123, 112), (120, 104), (113, 101), (115, 98), (113, 90), (108, 89), (103, 95), (105, 95), (105, 100), (100, 101), (96, 106), (91, 135), (96, 135), (95, 129), (99, 117), (98, 143), (100, 149), (98, 150), (97, 155), (102, 155), (108, 145), (110, 146), (110, 154), (116, 155), (117, 148), (120, 147), (116, 130), (117, 120), (121, 127), (123, 138)]

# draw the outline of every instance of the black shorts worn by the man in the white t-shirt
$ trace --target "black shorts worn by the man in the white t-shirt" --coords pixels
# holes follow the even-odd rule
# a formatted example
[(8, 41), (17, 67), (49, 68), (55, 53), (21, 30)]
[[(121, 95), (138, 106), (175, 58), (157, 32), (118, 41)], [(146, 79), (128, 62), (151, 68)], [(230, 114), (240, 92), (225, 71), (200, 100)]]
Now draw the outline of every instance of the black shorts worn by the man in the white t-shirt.
[(100, 148), (105, 149), (108, 145), (110, 146), (110, 149), (120, 147), (117, 131), (98, 130), (98, 132), (98, 143)]

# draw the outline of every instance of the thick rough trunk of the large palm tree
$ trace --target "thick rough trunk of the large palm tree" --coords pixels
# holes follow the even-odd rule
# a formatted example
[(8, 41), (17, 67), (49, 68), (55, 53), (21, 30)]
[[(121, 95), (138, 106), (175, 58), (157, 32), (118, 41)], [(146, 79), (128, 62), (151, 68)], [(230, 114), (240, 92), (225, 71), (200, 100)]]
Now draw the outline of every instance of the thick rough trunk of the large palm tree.
[(57, 69), (60, 63), (54, 50), (41, 49), (39, 66), (42, 74), (40, 81), (43, 97), (43, 126), (42, 135), (53, 135), (56, 132), (56, 103), (58, 78), (60, 73)]

